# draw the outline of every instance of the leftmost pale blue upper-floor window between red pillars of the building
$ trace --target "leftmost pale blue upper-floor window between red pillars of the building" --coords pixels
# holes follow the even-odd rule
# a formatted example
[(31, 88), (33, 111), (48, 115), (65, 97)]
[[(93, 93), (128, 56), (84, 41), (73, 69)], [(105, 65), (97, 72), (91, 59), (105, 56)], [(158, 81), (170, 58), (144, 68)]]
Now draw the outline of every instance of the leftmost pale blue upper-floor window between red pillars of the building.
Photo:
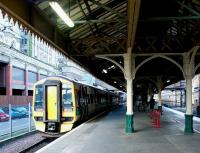
[(12, 80), (24, 81), (24, 74), (25, 71), (23, 69), (17, 67), (12, 68)]

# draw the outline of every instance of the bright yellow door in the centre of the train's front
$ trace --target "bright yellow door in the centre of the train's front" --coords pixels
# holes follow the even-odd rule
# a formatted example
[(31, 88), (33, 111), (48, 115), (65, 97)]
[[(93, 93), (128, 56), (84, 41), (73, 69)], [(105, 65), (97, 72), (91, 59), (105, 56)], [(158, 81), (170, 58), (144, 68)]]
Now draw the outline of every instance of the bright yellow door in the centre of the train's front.
[(47, 86), (47, 120), (58, 120), (57, 86)]

